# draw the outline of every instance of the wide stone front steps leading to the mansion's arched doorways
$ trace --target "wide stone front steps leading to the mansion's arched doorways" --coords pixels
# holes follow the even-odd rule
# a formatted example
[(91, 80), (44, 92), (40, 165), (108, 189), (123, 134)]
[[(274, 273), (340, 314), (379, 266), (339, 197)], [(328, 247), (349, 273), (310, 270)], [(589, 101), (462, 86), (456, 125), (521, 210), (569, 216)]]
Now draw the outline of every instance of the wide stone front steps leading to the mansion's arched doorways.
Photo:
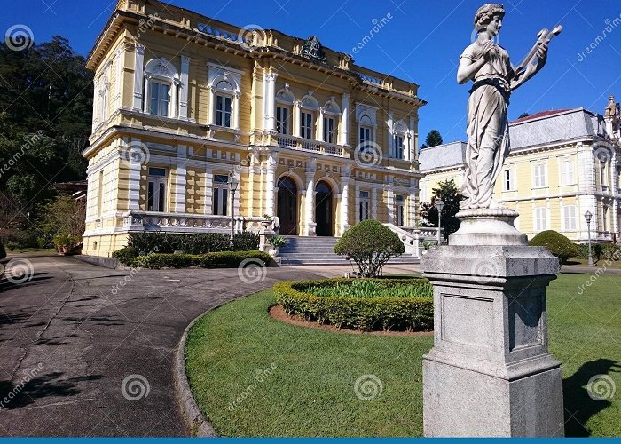
[[(283, 236), (287, 245), (279, 251), (281, 266), (349, 266), (350, 261), (334, 253), (336, 237)], [(392, 258), (388, 264), (418, 264), (410, 254)]]

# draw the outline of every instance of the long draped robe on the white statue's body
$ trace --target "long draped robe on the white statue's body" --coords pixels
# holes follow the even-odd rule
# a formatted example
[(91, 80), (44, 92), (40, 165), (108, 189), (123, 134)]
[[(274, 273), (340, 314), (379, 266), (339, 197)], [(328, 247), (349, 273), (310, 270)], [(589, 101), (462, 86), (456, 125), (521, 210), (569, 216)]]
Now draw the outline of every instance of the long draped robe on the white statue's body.
[[(482, 55), (483, 47), (474, 43), (461, 57), (473, 62)], [(509, 55), (496, 45), (491, 59), (479, 69), (468, 99), (468, 147), (460, 206), (490, 208), (497, 206), (491, 199), (496, 178), (509, 154), (509, 75), (513, 75)]]

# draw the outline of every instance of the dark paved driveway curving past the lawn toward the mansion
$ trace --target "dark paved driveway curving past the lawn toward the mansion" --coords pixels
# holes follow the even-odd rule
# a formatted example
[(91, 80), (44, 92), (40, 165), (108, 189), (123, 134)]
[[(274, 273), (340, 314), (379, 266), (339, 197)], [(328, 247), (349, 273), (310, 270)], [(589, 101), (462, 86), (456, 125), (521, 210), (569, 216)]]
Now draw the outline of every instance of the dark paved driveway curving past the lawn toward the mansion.
[[(193, 318), (275, 281), (344, 269), (269, 268), (244, 283), (237, 269), (132, 276), (72, 258), (29, 260), (31, 281), (0, 287), (0, 435), (187, 435), (173, 358)], [(131, 375), (140, 377), (123, 393)], [(147, 396), (128, 399), (145, 384)]]

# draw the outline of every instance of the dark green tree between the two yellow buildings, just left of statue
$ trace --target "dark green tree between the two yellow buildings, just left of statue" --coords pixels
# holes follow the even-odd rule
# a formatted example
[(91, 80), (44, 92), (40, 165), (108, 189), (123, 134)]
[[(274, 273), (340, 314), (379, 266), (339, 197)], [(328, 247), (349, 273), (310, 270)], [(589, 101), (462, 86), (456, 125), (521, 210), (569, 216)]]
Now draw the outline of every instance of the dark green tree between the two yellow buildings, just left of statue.
[(460, 211), (460, 201), (464, 196), (452, 179), (440, 182), (436, 188), (432, 189), (432, 192), (431, 202), (421, 203), (422, 225), (437, 226), (436, 201), (442, 199), (444, 202), (442, 227), (444, 228), (444, 239), (448, 240), (449, 234), (460, 229), (460, 219), (456, 218), (455, 215)]

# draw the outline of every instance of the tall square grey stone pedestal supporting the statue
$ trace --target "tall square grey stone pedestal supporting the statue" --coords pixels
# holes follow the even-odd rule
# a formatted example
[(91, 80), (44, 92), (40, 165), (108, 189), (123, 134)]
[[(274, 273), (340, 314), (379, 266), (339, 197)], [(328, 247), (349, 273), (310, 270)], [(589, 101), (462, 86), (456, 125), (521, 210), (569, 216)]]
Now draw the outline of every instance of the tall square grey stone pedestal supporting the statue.
[(512, 232), (515, 216), (497, 219), (497, 233), (477, 233), (478, 214), (451, 245), (421, 258), (435, 311), (434, 347), (423, 357), (425, 436), (564, 434), (561, 362), (548, 353), (546, 322), (559, 262)]

